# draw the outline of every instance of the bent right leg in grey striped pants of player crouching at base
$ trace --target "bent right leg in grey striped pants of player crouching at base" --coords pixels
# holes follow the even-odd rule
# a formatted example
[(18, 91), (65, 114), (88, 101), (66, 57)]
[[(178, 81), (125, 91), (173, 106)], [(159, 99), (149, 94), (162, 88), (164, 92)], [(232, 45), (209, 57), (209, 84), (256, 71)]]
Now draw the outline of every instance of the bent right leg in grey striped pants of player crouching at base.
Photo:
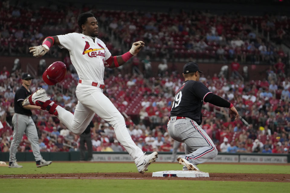
[(195, 121), (191, 120), (189, 124), (192, 127), (188, 128), (192, 132), (188, 137), (184, 136), (186, 156), (190, 157), (195, 165), (216, 157), (218, 150), (208, 134)]

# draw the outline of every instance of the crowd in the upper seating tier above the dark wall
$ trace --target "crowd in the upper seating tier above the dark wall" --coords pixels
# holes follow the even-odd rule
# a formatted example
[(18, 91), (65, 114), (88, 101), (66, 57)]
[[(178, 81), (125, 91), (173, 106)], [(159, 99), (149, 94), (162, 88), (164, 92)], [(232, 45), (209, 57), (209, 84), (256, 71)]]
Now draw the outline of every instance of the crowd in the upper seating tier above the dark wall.
[[(278, 58), (283, 62), (288, 54), (282, 50), (281, 41), (286, 38), (290, 21), (283, 14), (242, 16), (227, 12), (213, 14), (209, 11), (140, 12), (98, 10), (94, 6), (74, 5), (31, 6), (27, 2), (0, 5), (1, 55), (28, 55), (28, 48), (39, 45), (49, 34), (79, 32), (76, 16), (92, 11), (100, 27), (113, 34), (122, 45), (130, 47), (137, 40), (144, 40), (144, 55), (167, 60), (198, 58), (227, 62), (237, 58), (240, 63), (271, 63)], [(261, 32), (267, 31), (272, 43)], [(100, 33), (112, 54), (123, 53), (109, 42), (110, 33)], [(127, 50), (126, 48), (126, 50)], [(124, 49), (124, 48), (123, 48)], [(118, 54), (117, 54), (118, 53)], [(65, 57), (53, 47), (50, 57)]]

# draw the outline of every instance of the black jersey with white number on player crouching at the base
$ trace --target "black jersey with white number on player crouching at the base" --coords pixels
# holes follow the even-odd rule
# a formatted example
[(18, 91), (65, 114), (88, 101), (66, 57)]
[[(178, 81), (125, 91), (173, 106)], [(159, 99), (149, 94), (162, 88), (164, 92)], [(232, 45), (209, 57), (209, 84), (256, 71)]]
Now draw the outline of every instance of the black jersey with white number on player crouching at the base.
[(201, 124), (201, 107), (205, 96), (212, 93), (199, 81), (185, 81), (177, 90), (170, 116), (188, 117)]

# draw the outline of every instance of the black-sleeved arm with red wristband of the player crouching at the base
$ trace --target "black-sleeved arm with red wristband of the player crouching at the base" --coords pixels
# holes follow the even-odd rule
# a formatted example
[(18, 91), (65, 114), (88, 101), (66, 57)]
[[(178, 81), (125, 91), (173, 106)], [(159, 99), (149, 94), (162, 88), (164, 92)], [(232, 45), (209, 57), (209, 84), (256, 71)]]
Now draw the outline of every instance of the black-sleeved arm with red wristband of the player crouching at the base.
[(218, 95), (215, 95), (213, 93), (209, 93), (207, 96), (205, 96), (204, 101), (206, 103), (211, 103), (215, 106), (229, 108), (230, 118), (235, 118), (235, 120), (237, 120), (240, 117), (240, 115), (239, 115), (237, 109), (234, 107), (234, 105), (232, 103), (229, 103), (228, 101), (224, 100), (223, 98), (221, 98)]

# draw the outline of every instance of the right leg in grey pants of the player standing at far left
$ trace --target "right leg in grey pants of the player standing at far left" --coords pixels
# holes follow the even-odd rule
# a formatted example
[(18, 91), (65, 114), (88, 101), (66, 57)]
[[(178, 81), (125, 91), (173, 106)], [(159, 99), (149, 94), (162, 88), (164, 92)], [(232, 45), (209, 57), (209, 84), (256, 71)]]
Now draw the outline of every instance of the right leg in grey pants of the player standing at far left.
[(33, 155), (35, 157), (35, 161), (41, 160), (42, 157), (41, 157), (40, 149), (39, 149), (37, 130), (31, 117), (29, 117), (28, 119), (28, 124), (25, 130), (25, 134), (27, 135), (27, 138), (31, 143), (31, 148), (32, 148)]

